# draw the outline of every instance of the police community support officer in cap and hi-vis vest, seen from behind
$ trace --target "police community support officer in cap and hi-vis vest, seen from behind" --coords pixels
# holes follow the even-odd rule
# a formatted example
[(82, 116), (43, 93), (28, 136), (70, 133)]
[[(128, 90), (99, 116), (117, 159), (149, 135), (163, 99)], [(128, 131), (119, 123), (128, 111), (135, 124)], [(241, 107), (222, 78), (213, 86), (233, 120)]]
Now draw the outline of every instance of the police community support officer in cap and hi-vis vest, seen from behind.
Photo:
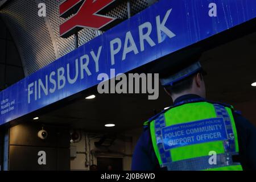
[(144, 123), (132, 170), (256, 169), (255, 127), (232, 106), (205, 100), (203, 73), (197, 62), (160, 79), (174, 105)]

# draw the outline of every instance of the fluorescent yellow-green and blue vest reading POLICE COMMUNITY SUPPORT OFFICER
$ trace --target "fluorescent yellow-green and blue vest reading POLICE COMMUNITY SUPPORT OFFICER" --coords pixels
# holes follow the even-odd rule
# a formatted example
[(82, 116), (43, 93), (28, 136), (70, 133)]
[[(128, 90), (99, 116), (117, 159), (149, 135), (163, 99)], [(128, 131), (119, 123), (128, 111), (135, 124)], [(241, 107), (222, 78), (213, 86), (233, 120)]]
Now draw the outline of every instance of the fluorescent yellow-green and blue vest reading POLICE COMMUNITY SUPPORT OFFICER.
[(239, 152), (232, 106), (191, 102), (171, 107), (147, 124), (160, 167), (242, 170), (232, 159)]

